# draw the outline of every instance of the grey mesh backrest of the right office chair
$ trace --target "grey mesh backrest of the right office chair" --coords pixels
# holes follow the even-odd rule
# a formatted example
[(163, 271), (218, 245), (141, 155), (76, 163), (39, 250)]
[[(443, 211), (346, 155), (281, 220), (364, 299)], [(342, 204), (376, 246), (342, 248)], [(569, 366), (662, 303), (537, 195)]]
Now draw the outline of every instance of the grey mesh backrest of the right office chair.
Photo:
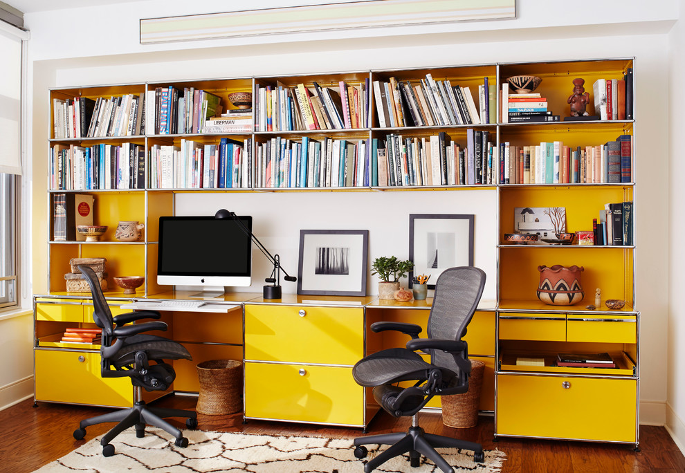
[[(471, 322), (485, 287), (485, 272), (473, 266), (445, 270), (435, 283), (435, 295), (428, 316), (428, 337), (461, 340)], [(453, 355), (435, 350), (430, 362), (459, 372)]]

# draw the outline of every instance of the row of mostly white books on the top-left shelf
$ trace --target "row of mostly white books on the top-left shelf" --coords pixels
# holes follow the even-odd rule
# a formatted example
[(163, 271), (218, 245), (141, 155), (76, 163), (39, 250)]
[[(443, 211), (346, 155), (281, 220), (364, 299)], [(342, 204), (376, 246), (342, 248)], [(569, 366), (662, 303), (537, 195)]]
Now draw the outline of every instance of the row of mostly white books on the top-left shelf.
[(145, 133), (145, 107), (140, 95), (125, 94), (93, 100), (53, 98), (53, 136), (105, 138)]

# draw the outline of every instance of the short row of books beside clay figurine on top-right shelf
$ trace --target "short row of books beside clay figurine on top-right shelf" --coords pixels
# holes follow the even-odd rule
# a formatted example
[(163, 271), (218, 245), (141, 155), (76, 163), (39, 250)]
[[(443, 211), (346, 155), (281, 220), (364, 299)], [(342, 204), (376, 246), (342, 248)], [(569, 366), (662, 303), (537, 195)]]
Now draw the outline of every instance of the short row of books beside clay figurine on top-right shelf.
[(623, 79), (598, 79), (592, 84), (594, 113), (600, 120), (632, 120), (632, 74), (628, 68)]

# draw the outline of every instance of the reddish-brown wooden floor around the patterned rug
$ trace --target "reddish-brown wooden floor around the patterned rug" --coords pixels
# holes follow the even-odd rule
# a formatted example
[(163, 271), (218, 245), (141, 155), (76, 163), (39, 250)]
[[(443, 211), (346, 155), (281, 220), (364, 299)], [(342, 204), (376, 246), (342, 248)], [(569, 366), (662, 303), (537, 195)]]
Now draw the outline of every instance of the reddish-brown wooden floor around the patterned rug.
[[(196, 398), (170, 396), (161, 404), (192, 409)], [(74, 440), (72, 432), (82, 418), (96, 416), (110, 409), (77, 407), (40, 402), (33, 407), (26, 400), (0, 411), (0, 472), (28, 473), (60, 458), (86, 440), (103, 434), (113, 424), (88, 427), (85, 440)], [(319, 427), (293, 423), (250, 420), (242, 423), (241, 414), (231, 416), (198, 415), (199, 428), (250, 434), (306, 434), (331, 438), (354, 438), (360, 429)], [(180, 422), (174, 425), (184, 428)], [(381, 412), (369, 425), (369, 434), (394, 432), (409, 427), (407, 418), (394, 419)], [(444, 427), (439, 414), (421, 414), (419, 424), (426, 432), (458, 436), (482, 443), (484, 449), (500, 449), (507, 455), (502, 473), (564, 472), (685, 472), (685, 458), (664, 427), (640, 427), (641, 452), (630, 445), (499, 438), (493, 443), (493, 418), (481, 416), (477, 427)], [(114, 443), (116, 447), (116, 441)], [(362, 469), (360, 467), (359, 471)]]

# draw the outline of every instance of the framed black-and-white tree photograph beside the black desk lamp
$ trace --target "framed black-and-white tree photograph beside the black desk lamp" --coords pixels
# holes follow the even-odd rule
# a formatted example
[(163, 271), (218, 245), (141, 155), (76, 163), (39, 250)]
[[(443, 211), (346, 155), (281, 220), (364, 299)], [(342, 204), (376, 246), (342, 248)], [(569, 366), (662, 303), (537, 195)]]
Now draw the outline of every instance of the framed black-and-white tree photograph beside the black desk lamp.
[(366, 295), (369, 230), (300, 230), (300, 295)]

